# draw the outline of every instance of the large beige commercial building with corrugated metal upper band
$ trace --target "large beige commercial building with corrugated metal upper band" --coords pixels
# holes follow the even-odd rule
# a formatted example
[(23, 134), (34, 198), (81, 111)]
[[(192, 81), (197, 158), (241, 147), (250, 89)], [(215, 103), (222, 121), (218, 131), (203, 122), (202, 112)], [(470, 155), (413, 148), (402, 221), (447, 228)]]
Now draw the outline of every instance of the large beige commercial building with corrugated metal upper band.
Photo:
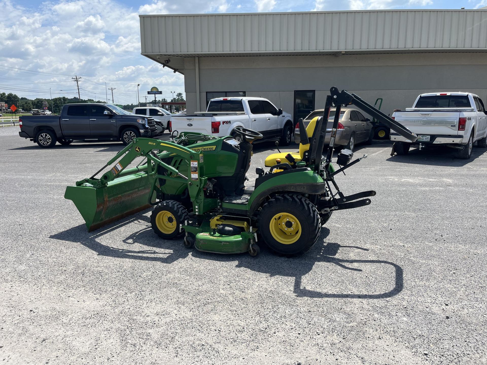
[(188, 113), (262, 96), (295, 120), (331, 86), (382, 110), (431, 91), (486, 98), (487, 10), (141, 15), (142, 55), (183, 73)]

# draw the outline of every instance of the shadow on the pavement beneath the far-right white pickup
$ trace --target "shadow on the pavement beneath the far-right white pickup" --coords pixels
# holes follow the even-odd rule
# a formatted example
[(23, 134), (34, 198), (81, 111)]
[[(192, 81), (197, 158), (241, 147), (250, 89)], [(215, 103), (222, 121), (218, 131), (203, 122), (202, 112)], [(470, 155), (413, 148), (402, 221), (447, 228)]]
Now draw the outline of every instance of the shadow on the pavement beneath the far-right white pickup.
[(401, 164), (462, 167), (469, 164), (477, 157), (482, 156), (484, 153), (486, 153), (485, 148), (474, 146), (472, 148), (471, 157), (468, 160), (464, 160), (455, 157), (455, 150), (448, 147), (438, 147), (421, 151), (419, 148), (414, 148), (411, 149), (407, 155), (394, 155), (389, 157), (386, 161)]

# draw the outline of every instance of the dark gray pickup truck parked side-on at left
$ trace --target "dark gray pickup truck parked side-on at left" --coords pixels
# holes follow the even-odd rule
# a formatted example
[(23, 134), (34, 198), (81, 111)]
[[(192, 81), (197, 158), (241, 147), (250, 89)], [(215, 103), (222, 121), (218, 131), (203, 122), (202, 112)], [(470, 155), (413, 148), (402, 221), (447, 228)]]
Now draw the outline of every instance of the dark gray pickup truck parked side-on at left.
[(44, 148), (56, 142), (122, 141), (154, 137), (163, 131), (153, 118), (141, 117), (111, 104), (67, 104), (61, 115), (21, 116), (19, 136), (30, 138)]

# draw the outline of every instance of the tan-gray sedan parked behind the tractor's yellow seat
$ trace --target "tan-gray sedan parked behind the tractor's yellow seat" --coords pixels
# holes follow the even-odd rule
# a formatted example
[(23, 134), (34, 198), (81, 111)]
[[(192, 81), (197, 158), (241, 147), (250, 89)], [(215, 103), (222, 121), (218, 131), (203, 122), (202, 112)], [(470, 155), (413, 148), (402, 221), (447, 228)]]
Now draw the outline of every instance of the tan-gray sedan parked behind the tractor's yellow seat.
[[(317, 109), (312, 111), (303, 120), (305, 127), (311, 122), (314, 117), (322, 116), (324, 109)], [(328, 117), (328, 124), (326, 131), (331, 132), (333, 127), (333, 118), (335, 117), (336, 109), (330, 110), (330, 116)], [(300, 129), (296, 124), (294, 131), (294, 140), (296, 143), (300, 143)], [(335, 139), (335, 146), (337, 149), (346, 147), (352, 151), (357, 143), (366, 142), (372, 143), (374, 134), (372, 133), (372, 123), (369, 118), (365, 118), (363, 114), (356, 109), (342, 109), (340, 110), (340, 119), (337, 128), (337, 138)], [(330, 133), (326, 134), (325, 144), (330, 143)]]

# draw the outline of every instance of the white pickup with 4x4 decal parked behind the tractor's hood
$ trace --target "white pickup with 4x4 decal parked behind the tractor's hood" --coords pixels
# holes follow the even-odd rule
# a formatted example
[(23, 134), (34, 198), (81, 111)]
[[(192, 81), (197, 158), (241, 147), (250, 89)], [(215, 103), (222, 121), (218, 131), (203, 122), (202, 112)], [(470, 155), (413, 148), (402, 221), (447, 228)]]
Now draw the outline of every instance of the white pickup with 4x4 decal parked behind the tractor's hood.
[[(280, 139), (288, 146), (293, 134), (291, 114), (284, 113), (269, 100), (257, 97), (228, 97), (211, 99), (206, 111), (193, 115), (173, 115), (169, 131), (200, 132), (216, 137), (232, 136), (240, 142), (235, 127), (244, 127), (263, 134), (262, 140)], [(262, 140), (259, 140), (262, 141)]]

